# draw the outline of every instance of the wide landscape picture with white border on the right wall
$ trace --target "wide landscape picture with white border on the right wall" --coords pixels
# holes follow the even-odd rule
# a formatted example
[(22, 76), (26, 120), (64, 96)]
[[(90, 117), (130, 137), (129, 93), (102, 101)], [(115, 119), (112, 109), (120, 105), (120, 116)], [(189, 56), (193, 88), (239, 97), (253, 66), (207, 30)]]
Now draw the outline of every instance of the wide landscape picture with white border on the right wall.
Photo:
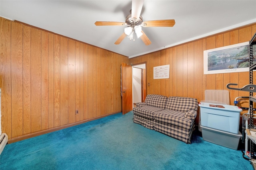
[(204, 74), (249, 71), (249, 42), (204, 51)]

